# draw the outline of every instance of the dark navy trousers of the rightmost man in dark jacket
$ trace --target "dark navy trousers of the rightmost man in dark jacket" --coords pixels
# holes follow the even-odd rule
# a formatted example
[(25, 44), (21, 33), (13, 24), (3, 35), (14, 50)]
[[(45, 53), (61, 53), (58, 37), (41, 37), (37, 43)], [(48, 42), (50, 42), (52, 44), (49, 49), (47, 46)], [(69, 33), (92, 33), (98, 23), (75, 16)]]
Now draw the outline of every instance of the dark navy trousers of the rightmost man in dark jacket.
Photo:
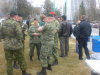
[(79, 38), (78, 39), (78, 44), (79, 44), (78, 45), (78, 48), (79, 48), (79, 59), (82, 59), (82, 56), (83, 56), (82, 48), (84, 48), (85, 55), (87, 56), (87, 58), (90, 58), (89, 50), (87, 48), (87, 42), (88, 42), (88, 37)]

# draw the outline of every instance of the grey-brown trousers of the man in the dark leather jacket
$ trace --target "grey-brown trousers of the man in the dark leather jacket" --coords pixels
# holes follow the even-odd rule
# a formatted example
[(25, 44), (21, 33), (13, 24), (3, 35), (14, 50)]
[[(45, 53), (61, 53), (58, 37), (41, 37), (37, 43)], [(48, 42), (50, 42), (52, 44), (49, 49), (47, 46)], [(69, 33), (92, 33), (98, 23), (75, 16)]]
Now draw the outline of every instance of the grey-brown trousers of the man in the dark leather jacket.
[(60, 50), (62, 56), (67, 56), (69, 52), (69, 37), (60, 37)]

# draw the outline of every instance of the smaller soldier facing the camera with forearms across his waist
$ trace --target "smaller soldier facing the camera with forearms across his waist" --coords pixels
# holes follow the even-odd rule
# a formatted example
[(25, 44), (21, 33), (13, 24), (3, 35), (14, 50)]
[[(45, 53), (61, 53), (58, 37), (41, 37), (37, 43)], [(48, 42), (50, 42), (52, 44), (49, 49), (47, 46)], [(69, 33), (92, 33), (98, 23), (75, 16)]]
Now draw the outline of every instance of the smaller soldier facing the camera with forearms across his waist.
[(39, 23), (36, 19), (34, 19), (34, 24), (29, 28), (29, 35), (30, 35), (30, 60), (32, 61), (32, 57), (34, 56), (34, 49), (35, 46), (37, 48), (37, 55), (38, 59), (40, 56), (40, 49), (41, 49), (41, 41), (40, 41), (40, 32), (38, 32)]

